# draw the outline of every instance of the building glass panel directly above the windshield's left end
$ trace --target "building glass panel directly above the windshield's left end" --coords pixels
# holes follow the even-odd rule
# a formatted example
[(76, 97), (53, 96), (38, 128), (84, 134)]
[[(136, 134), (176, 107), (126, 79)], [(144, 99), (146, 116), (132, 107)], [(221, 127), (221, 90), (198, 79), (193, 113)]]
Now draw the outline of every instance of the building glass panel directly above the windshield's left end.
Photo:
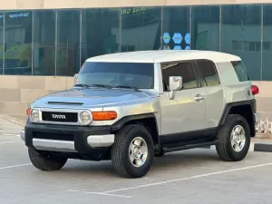
[(82, 64), (92, 56), (118, 53), (119, 44), (119, 9), (83, 9)]

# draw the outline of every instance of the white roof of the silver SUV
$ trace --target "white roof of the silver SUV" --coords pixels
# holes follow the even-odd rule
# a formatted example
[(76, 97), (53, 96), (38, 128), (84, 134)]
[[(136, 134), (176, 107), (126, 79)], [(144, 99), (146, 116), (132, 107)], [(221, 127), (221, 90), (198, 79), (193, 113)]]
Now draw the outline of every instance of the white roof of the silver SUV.
[(87, 62), (109, 63), (167, 63), (175, 61), (207, 59), (214, 63), (240, 61), (241, 59), (229, 53), (197, 50), (160, 50), (135, 51), (128, 53), (109, 53), (87, 59)]

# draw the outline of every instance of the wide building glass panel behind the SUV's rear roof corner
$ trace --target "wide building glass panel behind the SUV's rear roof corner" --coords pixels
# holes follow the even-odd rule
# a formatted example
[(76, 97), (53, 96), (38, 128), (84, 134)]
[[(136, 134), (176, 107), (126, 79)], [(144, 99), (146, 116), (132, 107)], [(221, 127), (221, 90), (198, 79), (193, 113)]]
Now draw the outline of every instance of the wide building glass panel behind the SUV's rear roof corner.
[(260, 80), (260, 43), (261, 6), (222, 5), (221, 52), (241, 57), (251, 80)]

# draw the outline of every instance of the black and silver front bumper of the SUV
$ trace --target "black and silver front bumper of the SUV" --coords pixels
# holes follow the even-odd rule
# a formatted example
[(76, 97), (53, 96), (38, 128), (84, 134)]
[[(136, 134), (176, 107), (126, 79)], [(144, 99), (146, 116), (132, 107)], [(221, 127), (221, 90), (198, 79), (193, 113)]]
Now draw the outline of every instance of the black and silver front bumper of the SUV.
[(20, 132), (26, 146), (40, 151), (90, 154), (107, 149), (114, 142), (110, 126), (82, 127), (27, 123)]

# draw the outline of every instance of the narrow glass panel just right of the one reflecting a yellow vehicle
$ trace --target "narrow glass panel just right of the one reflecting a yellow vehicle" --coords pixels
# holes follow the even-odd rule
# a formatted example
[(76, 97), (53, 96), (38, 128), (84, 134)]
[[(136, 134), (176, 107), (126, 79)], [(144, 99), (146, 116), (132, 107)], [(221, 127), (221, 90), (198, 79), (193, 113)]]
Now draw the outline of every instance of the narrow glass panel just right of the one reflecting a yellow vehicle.
[(34, 75), (55, 75), (55, 19), (55, 11), (34, 11)]

